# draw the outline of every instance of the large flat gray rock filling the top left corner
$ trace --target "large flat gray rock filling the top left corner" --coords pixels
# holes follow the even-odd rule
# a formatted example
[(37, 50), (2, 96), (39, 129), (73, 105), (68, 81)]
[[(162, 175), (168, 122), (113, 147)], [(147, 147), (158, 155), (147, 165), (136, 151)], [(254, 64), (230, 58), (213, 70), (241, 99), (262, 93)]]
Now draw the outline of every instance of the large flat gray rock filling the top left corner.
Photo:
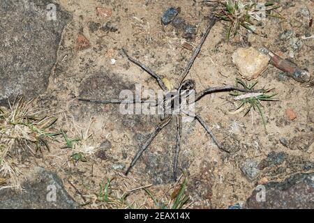
[(63, 27), (71, 15), (57, 6), (57, 20), (47, 20), (50, 0), (0, 1), (0, 103), (47, 89), (57, 59)]

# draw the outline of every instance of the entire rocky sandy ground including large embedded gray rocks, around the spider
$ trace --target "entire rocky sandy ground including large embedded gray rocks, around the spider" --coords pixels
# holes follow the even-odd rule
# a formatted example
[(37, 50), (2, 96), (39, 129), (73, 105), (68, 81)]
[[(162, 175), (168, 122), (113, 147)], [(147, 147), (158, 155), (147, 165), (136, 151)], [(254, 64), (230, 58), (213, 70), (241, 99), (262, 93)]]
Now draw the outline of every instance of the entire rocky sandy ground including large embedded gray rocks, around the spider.
[[(311, 80), (296, 82), (270, 64), (257, 77), (258, 87), (278, 93), (279, 101), (263, 103), (267, 130), (257, 112), (230, 113), (237, 107), (228, 93), (207, 95), (197, 103), (197, 112), (230, 153), (218, 150), (199, 123), (184, 123), (179, 167), (186, 174), (188, 208), (314, 208), (314, 40), (307, 38), (313, 36), (314, 1), (276, 2), (285, 19), (267, 17), (257, 26), (258, 35), (241, 31), (228, 43), (227, 23), (217, 22), (188, 79), (195, 80), (197, 91), (234, 84), (240, 75), (232, 53), (240, 47), (267, 47), (308, 70)], [(47, 20), (50, 3), (57, 7), (57, 20)], [(179, 17), (189, 29), (180, 21), (160, 22), (170, 6), (180, 8)], [(84, 138), (80, 148), (89, 155), (75, 165), (73, 149), (52, 142), (44, 157), (17, 157), (22, 160), (23, 190), (3, 187), (0, 208), (112, 208), (96, 195), (100, 184), (112, 178), (114, 194), (128, 192), (133, 207), (154, 207), (144, 190), (133, 190), (147, 185), (157, 198), (169, 201), (177, 188), (172, 179), (175, 122), (124, 176), (160, 118), (122, 115), (117, 105), (77, 98), (118, 98), (121, 90), (134, 91), (135, 84), (158, 90), (154, 79), (128, 61), (122, 47), (176, 82), (213, 10), (210, 3), (188, 0), (1, 1), (0, 104), (8, 107), (8, 99), (17, 94), (36, 98), (34, 107), (58, 116), (54, 129)], [(57, 201), (47, 201), (47, 185), (56, 185)], [(266, 197), (259, 201), (262, 190)]]

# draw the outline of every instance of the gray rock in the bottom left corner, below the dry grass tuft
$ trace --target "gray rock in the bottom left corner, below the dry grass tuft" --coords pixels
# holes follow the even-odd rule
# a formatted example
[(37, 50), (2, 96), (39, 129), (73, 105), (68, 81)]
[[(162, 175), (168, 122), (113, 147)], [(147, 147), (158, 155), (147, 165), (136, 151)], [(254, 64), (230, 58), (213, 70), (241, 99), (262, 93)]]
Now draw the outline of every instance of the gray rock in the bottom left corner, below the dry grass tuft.
[[(64, 189), (63, 183), (57, 174), (38, 167), (36, 174), (22, 185), (22, 192), (11, 189), (0, 190), (1, 209), (50, 209), (79, 208)], [(56, 196), (54, 199), (53, 191)]]

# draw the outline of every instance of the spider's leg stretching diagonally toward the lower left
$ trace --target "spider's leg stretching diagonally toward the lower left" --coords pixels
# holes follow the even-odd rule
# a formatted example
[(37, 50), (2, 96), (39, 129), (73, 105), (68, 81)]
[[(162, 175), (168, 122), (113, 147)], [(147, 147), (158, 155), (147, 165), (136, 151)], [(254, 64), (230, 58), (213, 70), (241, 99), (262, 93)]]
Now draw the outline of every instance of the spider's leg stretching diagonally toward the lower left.
[(147, 147), (149, 146), (149, 144), (151, 144), (151, 141), (153, 141), (153, 139), (157, 136), (157, 134), (160, 132), (160, 130), (162, 130), (163, 128), (165, 128), (166, 125), (168, 125), (170, 123), (170, 121), (172, 120), (172, 115), (167, 116), (167, 118), (165, 118), (164, 121), (162, 121), (161, 123), (159, 123), (159, 125), (156, 127), (156, 129), (154, 130), (154, 132), (151, 133), (151, 135), (149, 136), (149, 139), (147, 139), (147, 141), (145, 141), (144, 145), (142, 146), (142, 148), (140, 148), (139, 151), (137, 151), (135, 157), (133, 158), (130, 166), (128, 167), (128, 169), (126, 170), (126, 175), (130, 172), (130, 169), (132, 169), (132, 167), (134, 167), (135, 163), (137, 162), (137, 160), (140, 158), (140, 156), (142, 155), (142, 153), (147, 149)]

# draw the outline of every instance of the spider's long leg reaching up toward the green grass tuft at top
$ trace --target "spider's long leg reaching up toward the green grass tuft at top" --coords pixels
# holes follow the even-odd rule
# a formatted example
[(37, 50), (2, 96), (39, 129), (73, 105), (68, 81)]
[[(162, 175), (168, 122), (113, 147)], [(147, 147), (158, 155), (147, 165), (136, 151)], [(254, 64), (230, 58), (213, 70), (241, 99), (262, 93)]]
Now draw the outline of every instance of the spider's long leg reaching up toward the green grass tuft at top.
[(217, 21), (218, 21), (218, 19), (216, 17), (210, 18), (209, 26), (207, 27), (207, 30), (204, 33), (204, 36), (202, 36), (202, 39), (200, 40), (200, 44), (194, 50), (193, 55), (191, 56), (190, 60), (188, 61), (188, 65), (186, 66), (186, 68), (184, 69), (184, 72), (182, 72), (180, 77), (179, 77), (179, 82), (177, 84), (177, 88), (179, 88), (179, 86), (181, 86), (182, 82), (186, 78), (186, 75), (188, 75), (188, 72), (190, 71), (190, 68), (192, 67), (197, 55), (200, 53), (200, 49), (202, 48), (202, 45), (204, 44), (209, 32), (211, 31), (211, 28), (213, 28), (214, 24), (216, 24)]

